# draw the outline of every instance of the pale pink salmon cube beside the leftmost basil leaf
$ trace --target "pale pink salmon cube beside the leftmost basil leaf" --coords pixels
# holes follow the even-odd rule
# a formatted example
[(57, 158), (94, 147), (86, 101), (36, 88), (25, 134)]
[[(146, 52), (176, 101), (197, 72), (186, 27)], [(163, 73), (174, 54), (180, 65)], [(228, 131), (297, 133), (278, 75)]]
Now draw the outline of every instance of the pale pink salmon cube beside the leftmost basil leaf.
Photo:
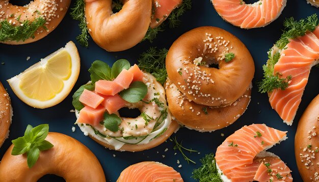
[(87, 106), (90, 106), (92, 108), (96, 108), (98, 105), (101, 104), (101, 102), (104, 100), (104, 98), (102, 98), (101, 96), (99, 96), (98, 94), (84, 89), (83, 93), (81, 94), (79, 101)]

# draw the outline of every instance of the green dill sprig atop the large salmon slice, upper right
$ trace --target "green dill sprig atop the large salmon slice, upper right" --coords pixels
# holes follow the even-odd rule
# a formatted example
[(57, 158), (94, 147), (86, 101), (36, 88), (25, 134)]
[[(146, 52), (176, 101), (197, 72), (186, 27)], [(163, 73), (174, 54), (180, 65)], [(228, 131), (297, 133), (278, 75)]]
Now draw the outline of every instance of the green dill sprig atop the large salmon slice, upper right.
[(276, 42), (276, 46), (280, 49), (283, 49), (290, 42), (289, 39), (304, 36), (308, 31), (313, 32), (315, 27), (319, 25), (319, 21), (317, 15), (313, 14), (299, 21), (296, 21), (294, 17), (287, 18), (283, 25), (284, 31)]

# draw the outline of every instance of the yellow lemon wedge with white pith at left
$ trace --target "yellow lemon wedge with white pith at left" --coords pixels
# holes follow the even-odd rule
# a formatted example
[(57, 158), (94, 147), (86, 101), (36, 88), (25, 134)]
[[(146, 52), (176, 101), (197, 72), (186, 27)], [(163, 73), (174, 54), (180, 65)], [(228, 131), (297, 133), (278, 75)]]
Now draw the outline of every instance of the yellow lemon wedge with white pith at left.
[(75, 44), (70, 41), (7, 81), (25, 104), (42, 109), (59, 104), (70, 94), (79, 69), (80, 58)]

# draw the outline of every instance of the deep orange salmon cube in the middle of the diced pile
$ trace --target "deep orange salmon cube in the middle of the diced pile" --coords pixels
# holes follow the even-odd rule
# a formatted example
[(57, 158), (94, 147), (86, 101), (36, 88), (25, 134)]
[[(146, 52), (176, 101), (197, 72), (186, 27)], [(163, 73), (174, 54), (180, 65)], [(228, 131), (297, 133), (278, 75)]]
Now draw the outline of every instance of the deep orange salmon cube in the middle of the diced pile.
[(118, 94), (114, 96), (105, 96), (104, 101), (101, 103), (105, 109), (108, 110), (109, 114), (113, 114), (122, 107), (124, 107), (126, 101), (123, 100)]

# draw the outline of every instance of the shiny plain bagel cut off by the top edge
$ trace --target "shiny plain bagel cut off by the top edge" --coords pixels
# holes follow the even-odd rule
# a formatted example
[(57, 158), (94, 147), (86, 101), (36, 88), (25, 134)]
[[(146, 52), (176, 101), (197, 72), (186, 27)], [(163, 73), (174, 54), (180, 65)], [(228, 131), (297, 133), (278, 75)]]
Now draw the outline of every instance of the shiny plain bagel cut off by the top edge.
[(151, 21), (151, 0), (123, 1), (112, 12), (112, 0), (86, 0), (85, 15), (89, 33), (101, 48), (114, 52), (129, 49), (144, 38)]

